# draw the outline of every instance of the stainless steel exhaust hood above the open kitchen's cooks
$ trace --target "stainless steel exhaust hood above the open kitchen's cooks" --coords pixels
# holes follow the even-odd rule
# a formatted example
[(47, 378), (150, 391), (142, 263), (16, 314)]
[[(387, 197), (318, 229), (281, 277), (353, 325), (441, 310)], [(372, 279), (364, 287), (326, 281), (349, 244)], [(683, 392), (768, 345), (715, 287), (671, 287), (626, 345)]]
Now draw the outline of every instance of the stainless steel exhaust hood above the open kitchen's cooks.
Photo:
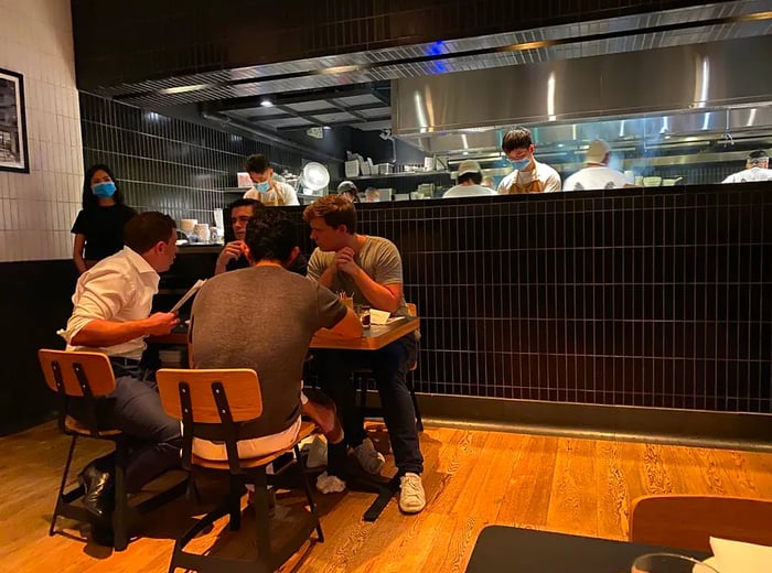
[(772, 139), (772, 36), (393, 80), (393, 133), (495, 159), (514, 125), (540, 155)]

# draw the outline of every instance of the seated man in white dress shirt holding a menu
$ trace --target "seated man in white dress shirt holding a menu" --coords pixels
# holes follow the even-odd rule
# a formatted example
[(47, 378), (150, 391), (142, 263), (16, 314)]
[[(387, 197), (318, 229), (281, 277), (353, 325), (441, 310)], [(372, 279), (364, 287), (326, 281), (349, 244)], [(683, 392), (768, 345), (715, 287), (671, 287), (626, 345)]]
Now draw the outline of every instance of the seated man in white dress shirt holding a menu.
[[(112, 365), (116, 389), (99, 402), (104, 422), (136, 440), (126, 468), (126, 487), (144, 484), (180, 463), (180, 424), (161, 407), (154, 372), (140, 365), (144, 337), (169, 334), (176, 314), (150, 314), (159, 273), (176, 255), (174, 220), (162, 213), (140, 213), (126, 224), (126, 246), (81, 275), (73, 295), (73, 314), (58, 334), (68, 350), (105, 353)], [(88, 464), (78, 475), (84, 506), (105, 523), (112, 511), (112, 454)], [(110, 531), (94, 530), (110, 544)]]

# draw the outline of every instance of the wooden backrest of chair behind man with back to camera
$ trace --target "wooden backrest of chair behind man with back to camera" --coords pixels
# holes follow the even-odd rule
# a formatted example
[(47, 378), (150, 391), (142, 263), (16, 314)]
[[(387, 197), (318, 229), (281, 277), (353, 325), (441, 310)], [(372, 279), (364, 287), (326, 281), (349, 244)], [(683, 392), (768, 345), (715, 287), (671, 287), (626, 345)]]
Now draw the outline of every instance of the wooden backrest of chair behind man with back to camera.
[(234, 422), (254, 420), (262, 414), (262, 394), (257, 372), (248, 368), (162, 368), (156, 372), (156, 380), (163, 409), (176, 420), (184, 419), (180, 393), (183, 385), (187, 388), (192, 420), (195, 423), (218, 424), (223, 421), (222, 409), (215, 398), (219, 388)]

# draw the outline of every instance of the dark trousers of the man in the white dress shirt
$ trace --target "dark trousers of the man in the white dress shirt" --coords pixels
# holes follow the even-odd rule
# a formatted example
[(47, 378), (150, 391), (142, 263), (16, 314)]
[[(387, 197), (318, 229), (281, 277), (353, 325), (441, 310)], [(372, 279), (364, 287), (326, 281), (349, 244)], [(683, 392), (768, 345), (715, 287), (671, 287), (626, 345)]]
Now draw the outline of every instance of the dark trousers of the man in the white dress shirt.
[[(126, 488), (136, 493), (164, 472), (180, 466), (180, 422), (163, 411), (154, 372), (140, 368), (139, 364), (110, 361), (116, 389), (97, 403), (98, 417), (101, 423), (121, 430), (128, 439)], [(111, 473), (114, 454), (94, 463), (100, 471)]]

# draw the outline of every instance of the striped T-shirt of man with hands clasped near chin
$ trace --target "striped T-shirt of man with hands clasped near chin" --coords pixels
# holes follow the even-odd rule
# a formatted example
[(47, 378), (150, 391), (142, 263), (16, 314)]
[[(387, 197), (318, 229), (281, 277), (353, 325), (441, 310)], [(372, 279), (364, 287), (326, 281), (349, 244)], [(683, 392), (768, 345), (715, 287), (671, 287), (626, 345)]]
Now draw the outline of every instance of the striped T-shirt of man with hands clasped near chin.
[[(317, 248), (309, 261), (308, 277), (314, 281), (319, 280), (326, 268), (332, 264), (334, 258), (334, 252), (322, 252)], [(354, 256), (354, 262), (378, 284), (385, 286), (387, 284), (403, 283), (403, 259), (399, 257), (397, 247), (388, 239), (365, 237), (365, 244), (362, 246), (362, 250)], [(330, 290), (335, 294), (345, 292), (349, 295), (353, 295), (354, 304), (372, 305), (365, 295), (362, 294), (351, 274), (343, 271), (335, 273)], [(405, 296), (399, 301), (399, 307), (392, 314), (395, 316), (408, 315)]]

